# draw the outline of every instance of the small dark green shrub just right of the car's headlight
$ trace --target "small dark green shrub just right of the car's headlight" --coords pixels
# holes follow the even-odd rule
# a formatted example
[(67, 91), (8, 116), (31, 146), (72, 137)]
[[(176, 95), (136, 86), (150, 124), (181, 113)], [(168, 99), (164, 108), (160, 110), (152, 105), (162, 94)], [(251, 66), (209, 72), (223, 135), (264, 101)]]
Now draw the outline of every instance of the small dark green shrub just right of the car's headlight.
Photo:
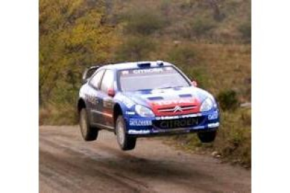
[(217, 99), (223, 110), (235, 110), (239, 105), (237, 93), (234, 90), (224, 90), (220, 92)]

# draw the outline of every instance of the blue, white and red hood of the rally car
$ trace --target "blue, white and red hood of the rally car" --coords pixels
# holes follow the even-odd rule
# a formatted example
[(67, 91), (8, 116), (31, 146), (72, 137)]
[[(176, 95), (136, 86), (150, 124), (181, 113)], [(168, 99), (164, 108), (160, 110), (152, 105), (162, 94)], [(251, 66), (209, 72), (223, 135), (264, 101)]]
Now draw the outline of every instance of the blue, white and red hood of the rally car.
[[(123, 92), (134, 103), (153, 110), (155, 115), (198, 113), (202, 101), (211, 94), (198, 87), (176, 87), (158, 90)], [(212, 97), (213, 98), (213, 97)]]

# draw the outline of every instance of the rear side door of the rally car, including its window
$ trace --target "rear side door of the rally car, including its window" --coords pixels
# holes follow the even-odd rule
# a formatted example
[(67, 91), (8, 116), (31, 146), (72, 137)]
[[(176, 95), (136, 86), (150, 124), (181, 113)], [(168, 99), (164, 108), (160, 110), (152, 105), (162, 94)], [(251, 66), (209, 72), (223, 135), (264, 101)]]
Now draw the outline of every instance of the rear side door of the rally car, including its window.
[(90, 122), (92, 124), (96, 124), (98, 122), (98, 113), (99, 112), (99, 103), (100, 101), (100, 87), (101, 87), (101, 82), (102, 78), (104, 76), (105, 70), (100, 70), (93, 75), (93, 77), (90, 79), (88, 85), (90, 86), (90, 89), (87, 93), (87, 101), (88, 101), (88, 110), (90, 114)]

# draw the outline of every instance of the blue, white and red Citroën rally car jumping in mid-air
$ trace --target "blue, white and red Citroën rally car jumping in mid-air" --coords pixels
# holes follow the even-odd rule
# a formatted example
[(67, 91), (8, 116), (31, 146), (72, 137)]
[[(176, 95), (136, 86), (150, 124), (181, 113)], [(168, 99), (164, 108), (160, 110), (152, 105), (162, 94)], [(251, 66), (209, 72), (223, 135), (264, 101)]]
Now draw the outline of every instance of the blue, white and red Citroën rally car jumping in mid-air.
[(77, 110), (85, 141), (107, 129), (122, 150), (134, 149), (139, 137), (191, 132), (209, 143), (219, 127), (214, 96), (161, 61), (90, 67), (83, 73)]

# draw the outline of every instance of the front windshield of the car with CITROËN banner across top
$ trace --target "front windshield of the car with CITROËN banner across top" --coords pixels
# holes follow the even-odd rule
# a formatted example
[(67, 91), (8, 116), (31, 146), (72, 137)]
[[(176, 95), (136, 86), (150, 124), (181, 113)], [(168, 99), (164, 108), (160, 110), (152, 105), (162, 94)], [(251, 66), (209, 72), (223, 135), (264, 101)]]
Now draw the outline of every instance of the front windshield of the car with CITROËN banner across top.
[(188, 81), (172, 66), (120, 71), (122, 91), (188, 87)]

